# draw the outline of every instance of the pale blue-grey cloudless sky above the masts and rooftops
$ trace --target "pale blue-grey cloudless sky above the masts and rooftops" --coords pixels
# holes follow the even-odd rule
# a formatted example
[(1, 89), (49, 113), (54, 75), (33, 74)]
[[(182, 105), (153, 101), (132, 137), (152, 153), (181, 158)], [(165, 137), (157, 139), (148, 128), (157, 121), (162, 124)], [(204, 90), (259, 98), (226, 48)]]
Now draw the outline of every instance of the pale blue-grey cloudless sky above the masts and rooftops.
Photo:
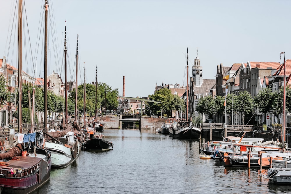
[[(0, 0), (0, 58), (17, 67), (14, 0)], [(43, 77), (44, 0), (25, 0), (26, 72)], [(48, 75), (63, 73), (64, 28), (68, 33), (68, 81), (75, 79), (79, 35), (78, 85), (105, 82), (125, 96), (147, 97), (155, 85), (186, 85), (189, 69), (200, 58), (203, 79), (215, 79), (217, 65), (281, 62), (291, 58), (291, 1), (49, 0)], [(53, 18), (53, 19), (52, 19)], [(26, 22), (25, 22), (26, 23)], [(25, 26), (25, 24), (24, 24)], [(41, 33), (40, 33), (41, 31)], [(12, 37), (12, 38), (10, 38)], [(15, 41), (13, 41), (15, 40)], [(29, 41), (30, 40), (30, 41)], [(10, 42), (10, 43), (9, 43)], [(13, 46), (14, 45), (14, 46)], [(56, 46), (54, 46), (56, 45)], [(41, 54), (42, 53), (42, 54)], [(31, 58), (31, 62), (29, 62)], [(27, 61), (27, 62), (26, 62)], [(32, 61), (35, 70), (32, 68)], [(34, 72), (34, 73), (33, 73)]]

